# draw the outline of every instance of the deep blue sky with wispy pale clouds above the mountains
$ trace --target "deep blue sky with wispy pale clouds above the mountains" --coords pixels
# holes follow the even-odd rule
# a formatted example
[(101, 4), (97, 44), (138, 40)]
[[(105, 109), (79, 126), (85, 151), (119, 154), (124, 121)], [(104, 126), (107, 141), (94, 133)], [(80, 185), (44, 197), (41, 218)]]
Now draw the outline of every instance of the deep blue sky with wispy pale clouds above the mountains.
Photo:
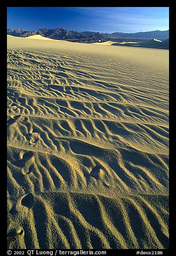
[(169, 7), (9, 7), (7, 29), (144, 32), (169, 29)]

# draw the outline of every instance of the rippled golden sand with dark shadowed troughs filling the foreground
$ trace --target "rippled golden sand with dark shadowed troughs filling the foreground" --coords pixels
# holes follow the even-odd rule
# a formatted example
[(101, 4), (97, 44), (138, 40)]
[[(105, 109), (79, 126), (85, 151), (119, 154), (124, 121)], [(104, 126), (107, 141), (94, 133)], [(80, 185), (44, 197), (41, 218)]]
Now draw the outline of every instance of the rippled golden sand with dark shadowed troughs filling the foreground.
[(8, 248), (169, 247), (169, 51), (7, 36), (16, 233)]

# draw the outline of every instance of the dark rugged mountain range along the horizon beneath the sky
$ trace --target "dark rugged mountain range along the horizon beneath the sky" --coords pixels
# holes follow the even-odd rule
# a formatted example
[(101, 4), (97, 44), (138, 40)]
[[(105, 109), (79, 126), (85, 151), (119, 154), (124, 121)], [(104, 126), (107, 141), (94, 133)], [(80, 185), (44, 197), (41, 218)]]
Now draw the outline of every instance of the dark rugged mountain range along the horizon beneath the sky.
[(58, 29), (39, 29), (37, 31), (27, 31), (21, 29), (7, 29), (7, 34), (14, 35), (16, 37), (29, 37), (30, 35), (40, 34), (43, 37), (57, 39), (57, 40), (78, 40), (78, 41), (87, 41), (92, 42), (96, 40), (113, 40), (113, 39), (158, 39), (165, 40), (169, 38), (169, 30), (166, 31), (149, 31), (149, 32), (137, 32), (137, 33), (121, 33), (114, 32), (111, 34), (108, 33), (99, 33), (99, 32), (76, 32), (68, 31), (62, 28)]

